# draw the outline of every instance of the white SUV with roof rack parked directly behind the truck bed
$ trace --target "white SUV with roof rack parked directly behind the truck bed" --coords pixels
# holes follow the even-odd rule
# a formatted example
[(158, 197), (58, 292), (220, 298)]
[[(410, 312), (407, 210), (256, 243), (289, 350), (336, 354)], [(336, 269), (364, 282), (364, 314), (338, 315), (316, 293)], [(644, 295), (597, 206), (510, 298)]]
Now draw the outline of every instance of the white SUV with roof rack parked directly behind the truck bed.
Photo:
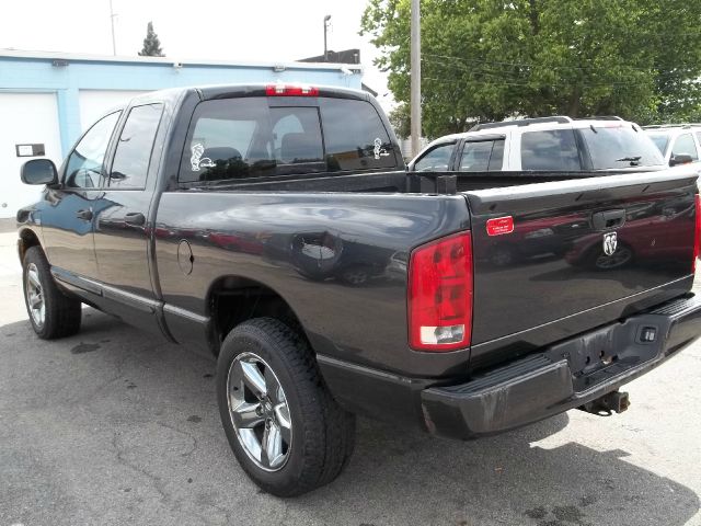
[(667, 163), (634, 123), (620, 117), (564, 116), (479, 124), (430, 142), (409, 170), (619, 171), (660, 170)]

